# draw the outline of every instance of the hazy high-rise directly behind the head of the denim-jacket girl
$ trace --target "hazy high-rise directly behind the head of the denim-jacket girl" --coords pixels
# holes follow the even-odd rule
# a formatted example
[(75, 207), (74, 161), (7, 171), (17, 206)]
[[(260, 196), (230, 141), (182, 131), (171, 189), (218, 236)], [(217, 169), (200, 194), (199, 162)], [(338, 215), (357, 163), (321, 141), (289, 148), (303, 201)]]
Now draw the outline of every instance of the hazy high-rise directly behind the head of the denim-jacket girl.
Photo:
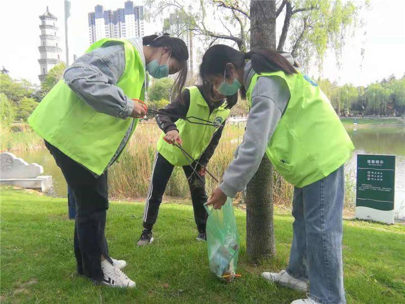
[(194, 70), (193, 32), (188, 29), (189, 22), (184, 12), (176, 11), (164, 20), (163, 32), (182, 39), (188, 49), (187, 68), (192, 75)]

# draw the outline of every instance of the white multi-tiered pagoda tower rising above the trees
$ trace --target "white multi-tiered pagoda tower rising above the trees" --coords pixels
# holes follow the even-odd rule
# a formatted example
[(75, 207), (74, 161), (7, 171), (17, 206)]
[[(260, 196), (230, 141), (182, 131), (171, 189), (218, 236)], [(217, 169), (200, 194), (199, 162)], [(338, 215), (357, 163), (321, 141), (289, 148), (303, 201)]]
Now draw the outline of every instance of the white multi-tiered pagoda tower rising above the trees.
[(47, 11), (39, 16), (39, 19), (41, 19), (41, 24), (39, 24), (41, 45), (38, 50), (41, 58), (38, 59), (38, 62), (41, 66), (41, 74), (38, 75), (38, 78), (39, 81), (43, 82), (48, 71), (61, 62), (62, 49), (60, 48), (58, 36), (59, 28), (56, 26), (58, 18), (51, 14), (47, 7)]

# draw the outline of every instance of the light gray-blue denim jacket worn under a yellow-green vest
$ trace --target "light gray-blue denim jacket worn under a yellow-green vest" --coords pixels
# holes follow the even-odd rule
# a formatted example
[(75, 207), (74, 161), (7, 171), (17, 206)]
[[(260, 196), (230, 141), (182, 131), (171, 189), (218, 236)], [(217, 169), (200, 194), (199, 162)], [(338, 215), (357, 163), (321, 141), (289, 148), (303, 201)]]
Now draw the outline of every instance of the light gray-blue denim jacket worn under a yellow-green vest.
[[(133, 37), (128, 41), (137, 48), (145, 67), (142, 38)], [(77, 58), (65, 70), (63, 78), (69, 88), (96, 111), (125, 120), (130, 117), (134, 103), (121, 88), (115, 85), (124, 70), (124, 45), (119, 42), (110, 42)], [(123, 150), (133, 127), (134, 124), (127, 130), (108, 166)]]

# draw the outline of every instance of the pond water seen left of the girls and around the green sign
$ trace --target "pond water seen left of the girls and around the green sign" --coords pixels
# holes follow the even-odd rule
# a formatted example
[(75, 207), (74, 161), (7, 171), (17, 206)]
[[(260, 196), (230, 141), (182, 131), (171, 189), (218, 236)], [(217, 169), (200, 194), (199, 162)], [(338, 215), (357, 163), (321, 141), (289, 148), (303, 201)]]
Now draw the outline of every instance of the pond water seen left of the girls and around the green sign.
[[(345, 124), (345, 127), (356, 147), (346, 166), (346, 170), (352, 170), (352, 178), (355, 178), (357, 154), (396, 155), (395, 213), (397, 218), (405, 218), (405, 124)], [(66, 182), (47, 149), (15, 151), (14, 154), (29, 163), (42, 165), (44, 174), (54, 179), (52, 195), (66, 197)]]

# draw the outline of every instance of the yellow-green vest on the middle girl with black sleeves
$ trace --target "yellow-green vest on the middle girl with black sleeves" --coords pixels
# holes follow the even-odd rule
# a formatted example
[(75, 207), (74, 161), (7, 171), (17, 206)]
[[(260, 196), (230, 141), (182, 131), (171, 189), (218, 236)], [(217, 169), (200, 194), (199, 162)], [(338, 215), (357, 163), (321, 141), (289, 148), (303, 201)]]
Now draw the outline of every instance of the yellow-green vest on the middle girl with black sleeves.
[[(225, 103), (215, 108), (210, 114), (207, 101), (204, 99), (203, 95), (201, 95), (198, 88), (193, 86), (187, 89), (190, 91), (190, 107), (188, 108), (186, 117), (198, 117), (215, 122), (218, 126), (226, 120), (229, 115), (229, 109), (225, 108)], [(191, 121), (196, 120), (191, 119)], [(182, 119), (179, 119), (175, 124), (183, 141), (183, 149), (196, 160), (204, 153), (215, 132), (218, 131), (218, 127), (197, 125)], [(177, 167), (186, 166), (192, 162), (184, 156), (178, 147), (167, 143), (163, 139), (164, 136), (165, 133), (163, 133), (157, 141), (157, 151), (161, 156), (167, 159), (173, 166)]]

